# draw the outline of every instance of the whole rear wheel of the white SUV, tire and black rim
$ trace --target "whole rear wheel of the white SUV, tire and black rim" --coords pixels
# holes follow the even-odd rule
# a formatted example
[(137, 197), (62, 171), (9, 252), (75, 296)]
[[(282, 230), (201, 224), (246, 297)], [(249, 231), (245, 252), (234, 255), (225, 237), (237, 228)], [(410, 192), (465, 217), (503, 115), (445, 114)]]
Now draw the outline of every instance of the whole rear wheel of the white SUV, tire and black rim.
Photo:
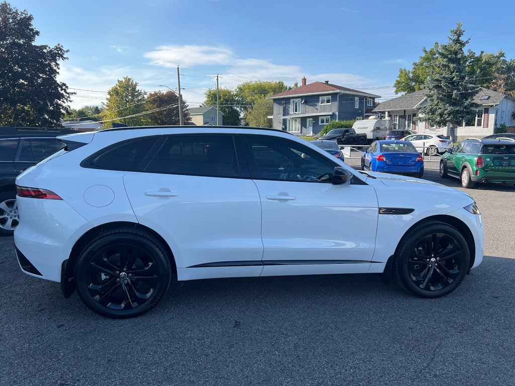
[(166, 249), (136, 229), (97, 236), (75, 267), (75, 286), (82, 302), (116, 319), (136, 317), (155, 307), (168, 290), (170, 278)]

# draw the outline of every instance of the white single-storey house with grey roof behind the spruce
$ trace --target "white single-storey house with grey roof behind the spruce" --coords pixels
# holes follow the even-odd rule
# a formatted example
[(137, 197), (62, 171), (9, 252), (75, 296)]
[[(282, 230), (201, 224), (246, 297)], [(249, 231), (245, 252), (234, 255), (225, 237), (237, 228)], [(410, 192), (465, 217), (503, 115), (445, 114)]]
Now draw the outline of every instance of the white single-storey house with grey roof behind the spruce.
[[(400, 97), (380, 103), (374, 112), (384, 113), (393, 119), (394, 129), (410, 129), (418, 133), (433, 133), (451, 135), (451, 125), (445, 127), (431, 127), (423, 120), (415, 119), (419, 116), (419, 107), (427, 104), (427, 90), (401, 95)], [(455, 141), (466, 137), (484, 137), (494, 133), (497, 126), (515, 126), (512, 115), (515, 112), (515, 98), (496, 91), (480, 87), (479, 93), (474, 97), (479, 105), (475, 116), (462, 122), (455, 130)]]

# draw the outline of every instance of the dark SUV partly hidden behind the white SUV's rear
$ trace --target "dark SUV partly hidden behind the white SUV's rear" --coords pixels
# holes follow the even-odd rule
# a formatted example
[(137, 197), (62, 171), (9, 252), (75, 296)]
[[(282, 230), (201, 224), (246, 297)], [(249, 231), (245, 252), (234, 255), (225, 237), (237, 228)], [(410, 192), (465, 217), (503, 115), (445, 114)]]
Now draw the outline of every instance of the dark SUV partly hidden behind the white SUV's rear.
[(64, 144), (56, 137), (76, 130), (0, 127), (0, 235), (12, 235), (18, 225), (16, 176)]

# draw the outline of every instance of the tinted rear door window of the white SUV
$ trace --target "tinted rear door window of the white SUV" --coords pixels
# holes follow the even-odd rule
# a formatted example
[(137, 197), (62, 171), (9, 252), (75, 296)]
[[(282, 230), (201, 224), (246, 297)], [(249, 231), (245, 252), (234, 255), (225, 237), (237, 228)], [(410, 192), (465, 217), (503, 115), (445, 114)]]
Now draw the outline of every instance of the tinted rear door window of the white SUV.
[(230, 135), (174, 135), (166, 139), (145, 171), (191, 176), (238, 177)]

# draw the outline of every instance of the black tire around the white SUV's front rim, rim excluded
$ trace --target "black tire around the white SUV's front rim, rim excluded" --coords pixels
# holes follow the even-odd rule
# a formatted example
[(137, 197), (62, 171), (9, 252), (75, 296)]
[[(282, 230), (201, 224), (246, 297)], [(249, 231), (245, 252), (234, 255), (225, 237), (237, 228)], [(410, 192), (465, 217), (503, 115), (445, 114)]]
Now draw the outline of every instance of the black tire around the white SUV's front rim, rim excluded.
[[(432, 233), (447, 233), (452, 236), (456, 242), (459, 243), (459, 246), (462, 251), (464, 251), (465, 261), (462, 262), (462, 267), (460, 269), (458, 277), (448, 285), (447, 287), (437, 290), (437, 291), (426, 291), (418, 287), (410, 277), (409, 269), (408, 269), (408, 259), (410, 255), (410, 251), (415, 248), (416, 243), (424, 236)], [(402, 247), (401, 250), (396, 253), (396, 273), (398, 275), (398, 279), (401, 280), (405, 289), (409, 292), (414, 293), (416, 295), (422, 297), (440, 297), (445, 296), (452, 291), (454, 291), (462, 282), (467, 274), (467, 270), (469, 268), (470, 263), (470, 251), (465, 238), (461, 235), (461, 233), (455, 229), (454, 227), (445, 224), (445, 223), (432, 223), (427, 224), (426, 226), (421, 226), (414, 232), (411, 232), (403, 241), (401, 241)]]

